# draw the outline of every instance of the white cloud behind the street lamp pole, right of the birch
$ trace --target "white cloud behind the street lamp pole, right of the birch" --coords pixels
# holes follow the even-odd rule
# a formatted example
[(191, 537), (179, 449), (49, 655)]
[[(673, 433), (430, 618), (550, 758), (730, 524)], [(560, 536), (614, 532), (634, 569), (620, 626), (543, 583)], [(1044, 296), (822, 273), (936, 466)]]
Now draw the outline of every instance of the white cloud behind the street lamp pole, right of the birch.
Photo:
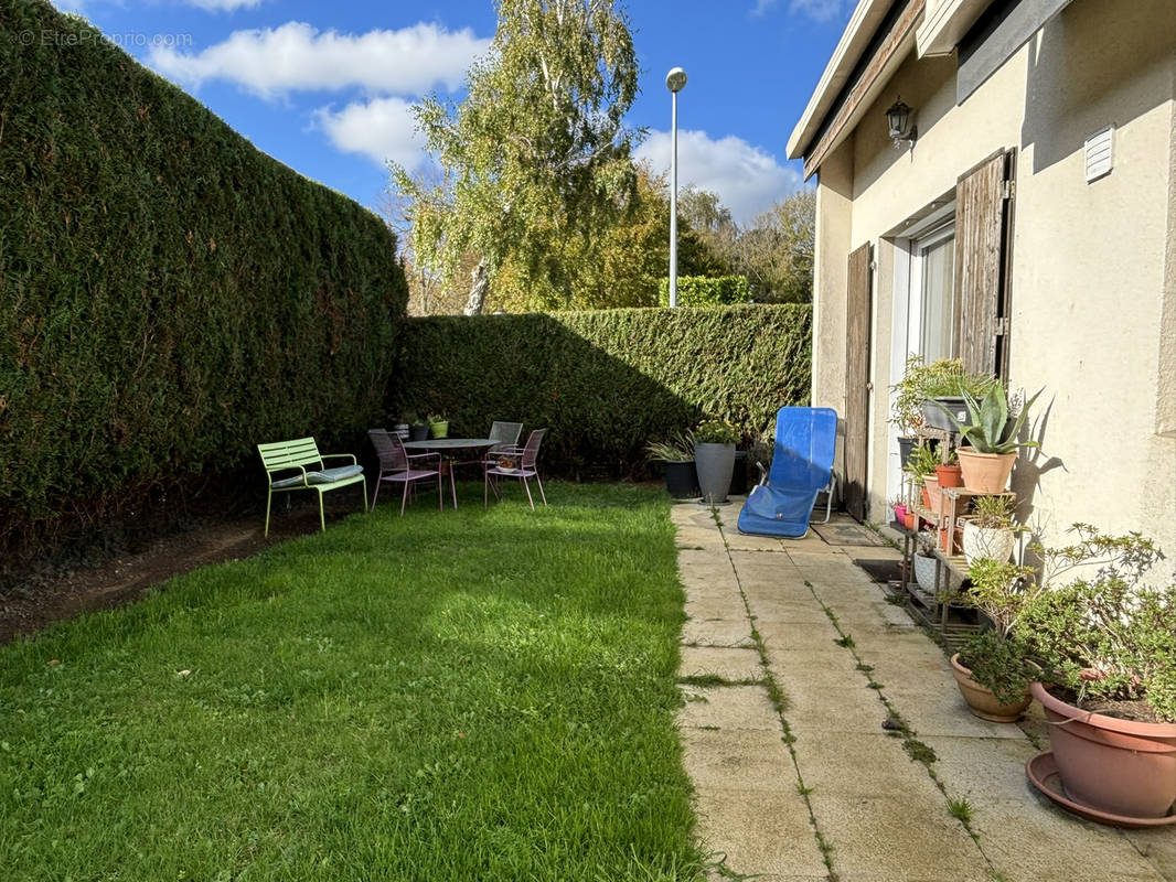
[[(653, 132), (637, 148), (637, 159), (654, 169), (669, 168), (669, 132)], [(706, 132), (677, 133), (680, 187), (694, 186), (717, 193), (737, 223), (747, 223), (773, 203), (799, 191), (801, 173), (780, 165), (776, 158), (742, 138), (711, 139)]]

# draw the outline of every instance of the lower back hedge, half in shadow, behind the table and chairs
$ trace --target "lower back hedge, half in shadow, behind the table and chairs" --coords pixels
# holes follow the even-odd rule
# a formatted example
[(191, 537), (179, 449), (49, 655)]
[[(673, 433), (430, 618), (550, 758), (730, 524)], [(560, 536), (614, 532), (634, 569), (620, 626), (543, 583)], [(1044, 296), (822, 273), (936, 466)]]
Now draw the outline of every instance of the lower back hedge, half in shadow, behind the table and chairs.
[(450, 435), (547, 426), (552, 473), (629, 475), (643, 447), (707, 417), (750, 437), (808, 402), (811, 309), (736, 306), (409, 319), (389, 422), (443, 413)]

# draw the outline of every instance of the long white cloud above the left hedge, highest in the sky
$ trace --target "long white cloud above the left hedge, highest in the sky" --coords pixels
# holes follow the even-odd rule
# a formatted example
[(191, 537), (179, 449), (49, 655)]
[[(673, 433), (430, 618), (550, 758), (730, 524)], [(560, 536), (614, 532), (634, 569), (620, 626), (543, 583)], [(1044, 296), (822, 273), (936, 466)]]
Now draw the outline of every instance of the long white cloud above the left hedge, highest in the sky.
[(228, 80), (263, 96), (349, 86), (420, 94), (437, 83), (457, 88), (470, 62), (489, 44), (469, 28), (450, 33), (423, 22), (400, 31), (340, 34), (290, 21), (276, 28), (236, 31), (198, 53), (156, 47), (151, 65), (193, 87), (206, 80)]

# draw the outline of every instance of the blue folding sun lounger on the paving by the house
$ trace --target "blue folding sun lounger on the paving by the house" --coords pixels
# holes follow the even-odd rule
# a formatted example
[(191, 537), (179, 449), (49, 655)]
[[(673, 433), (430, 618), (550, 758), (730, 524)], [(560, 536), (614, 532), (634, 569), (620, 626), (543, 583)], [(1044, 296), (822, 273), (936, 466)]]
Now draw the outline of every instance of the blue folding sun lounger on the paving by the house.
[(771, 469), (766, 481), (751, 488), (739, 516), (740, 533), (786, 539), (808, 533), (816, 495), (827, 490), (831, 505), (836, 445), (837, 412), (833, 408), (780, 408)]

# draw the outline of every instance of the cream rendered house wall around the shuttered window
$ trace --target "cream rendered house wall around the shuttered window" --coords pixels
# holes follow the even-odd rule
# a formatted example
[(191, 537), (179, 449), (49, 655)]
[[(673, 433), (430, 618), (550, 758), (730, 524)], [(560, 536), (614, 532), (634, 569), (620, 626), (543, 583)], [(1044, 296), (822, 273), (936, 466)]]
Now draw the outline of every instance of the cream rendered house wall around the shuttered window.
[[(887, 138), (884, 112), (897, 94), (917, 112), (911, 152), (893, 148)], [(877, 246), (871, 519), (884, 516), (887, 463), (897, 455), (888, 445), (886, 395), (897, 379), (890, 353), (893, 236), (960, 175), (1013, 147), (1010, 386), (1030, 394), (1045, 389), (1037, 407), (1041, 448), (1024, 452), (1014, 473), (1021, 514), (1047, 541), (1087, 521), (1143, 530), (1176, 554), (1168, 367), (1174, 107), (1170, 0), (1077, 0), (962, 106), (955, 103), (954, 59), (911, 55), (838, 151), (836, 165), (822, 165), (818, 192), (830, 195), (818, 198), (815, 402), (843, 401), (846, 258), (864, 241)], [(1087, 183), (1083, 141), (1110, 123), (1114, 171)], [(833, 198), (846, 189), (847, 172), (849, 205)], [(828, 218), (821, 216), (826, 207)]]

